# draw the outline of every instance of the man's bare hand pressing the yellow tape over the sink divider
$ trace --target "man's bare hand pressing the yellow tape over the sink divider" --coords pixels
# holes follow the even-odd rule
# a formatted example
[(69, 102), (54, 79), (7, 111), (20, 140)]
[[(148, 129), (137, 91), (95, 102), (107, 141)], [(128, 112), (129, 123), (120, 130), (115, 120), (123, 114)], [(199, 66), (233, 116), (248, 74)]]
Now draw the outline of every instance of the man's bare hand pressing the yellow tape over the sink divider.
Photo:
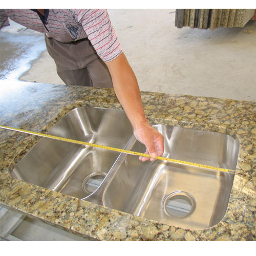
[(145, 154), (150, 154), (151, 158), (140, 156), (142, 162), (154, 161), (156, 156), (162, 156), (164, 152), (163, 136), (155, 130), (149, 123), (140, 129), (134, 130), (136, 139), (146, 146)]

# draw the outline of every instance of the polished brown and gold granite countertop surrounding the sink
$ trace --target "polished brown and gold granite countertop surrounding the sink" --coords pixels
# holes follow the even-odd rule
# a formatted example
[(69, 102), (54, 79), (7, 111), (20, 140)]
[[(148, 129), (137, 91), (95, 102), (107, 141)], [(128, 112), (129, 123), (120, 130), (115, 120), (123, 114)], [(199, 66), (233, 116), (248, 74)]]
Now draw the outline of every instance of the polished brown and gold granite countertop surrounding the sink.
[[(112, 89), (0, 82), (0, 124), (47, 132), (80, 106), (121, 109)], [(256, 102), (141, 92), (148, 120), (226, 133), (240, 141), (231, 197), (223, 220), (187, 230), (66, 196), (13, 179), (8, 170), (38, 137), (0, 129), (0, 204), (91, 240), (255, 241)]]

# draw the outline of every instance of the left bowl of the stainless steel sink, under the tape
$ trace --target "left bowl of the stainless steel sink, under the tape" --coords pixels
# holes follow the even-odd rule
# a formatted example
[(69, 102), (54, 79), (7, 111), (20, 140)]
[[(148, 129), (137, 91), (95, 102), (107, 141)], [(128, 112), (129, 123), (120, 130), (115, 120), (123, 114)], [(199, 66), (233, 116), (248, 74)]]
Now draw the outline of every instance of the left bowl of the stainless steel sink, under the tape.
[[(123, 111), (87, 107), (69, 112), (48, 134), (124, 147), (133, 130)], [(102, 181), (118, 155), (118, 152), (101, 148), (42, 138), (15, 166), (12, 176), (83, 198), (93, 192), (90, 178)]]

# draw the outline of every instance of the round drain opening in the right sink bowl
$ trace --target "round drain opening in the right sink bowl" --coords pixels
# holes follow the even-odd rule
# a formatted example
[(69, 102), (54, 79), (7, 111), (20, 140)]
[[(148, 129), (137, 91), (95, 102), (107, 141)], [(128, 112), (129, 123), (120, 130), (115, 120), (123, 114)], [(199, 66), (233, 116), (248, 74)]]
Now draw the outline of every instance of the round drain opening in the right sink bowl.
[(174, 191), (163, 200), (163, 209), (166, 215), (173, 218), (186, 218), (196, 208), (196, 201), (193, 196), (184, 191)]

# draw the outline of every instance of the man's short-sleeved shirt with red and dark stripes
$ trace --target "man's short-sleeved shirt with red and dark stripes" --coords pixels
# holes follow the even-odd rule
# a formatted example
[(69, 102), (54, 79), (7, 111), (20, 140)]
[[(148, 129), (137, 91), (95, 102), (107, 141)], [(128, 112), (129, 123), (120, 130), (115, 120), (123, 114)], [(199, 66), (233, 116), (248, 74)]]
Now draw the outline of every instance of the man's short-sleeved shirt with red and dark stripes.
[(109, 62), (122, 48), (106, 9), (45, 9), (45, 16), (35, 9), (1, 9), (0, 29), (9, 26), (8, 18), (60, 42), (88, 37), (99, 57)]

